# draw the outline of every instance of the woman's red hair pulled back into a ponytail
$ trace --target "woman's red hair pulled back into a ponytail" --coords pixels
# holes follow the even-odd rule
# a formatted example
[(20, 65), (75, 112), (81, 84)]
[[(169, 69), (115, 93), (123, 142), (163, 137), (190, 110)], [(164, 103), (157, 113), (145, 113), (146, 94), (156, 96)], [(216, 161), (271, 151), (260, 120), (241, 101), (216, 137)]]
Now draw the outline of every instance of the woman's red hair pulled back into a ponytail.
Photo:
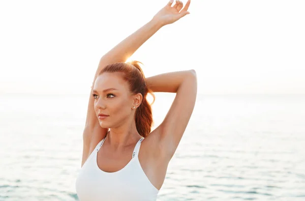
[[(142, 94), (143, 99), (140, 106), (136, 109), (135, 122), (139, 134), (143, 137), (146, 137), (150, 133), (151, 126), (153, 126), (153, 114), (151, 112), (151, 104), (155, 102), (156, 97), (153, 94), (153, 91), (148, 89), (146, 78), (139, 63), (142, 64), (138, 61), (109, 64), (104, 67), (103, 70), (101, 70), (99, 75), (104, 72), (123, 72), (123, 79), (128, 82), (130, 92), (132, 94)], [(148, 93), (154, 98), (154, 101), (151, 104), (149, 104), (146, 99)]]

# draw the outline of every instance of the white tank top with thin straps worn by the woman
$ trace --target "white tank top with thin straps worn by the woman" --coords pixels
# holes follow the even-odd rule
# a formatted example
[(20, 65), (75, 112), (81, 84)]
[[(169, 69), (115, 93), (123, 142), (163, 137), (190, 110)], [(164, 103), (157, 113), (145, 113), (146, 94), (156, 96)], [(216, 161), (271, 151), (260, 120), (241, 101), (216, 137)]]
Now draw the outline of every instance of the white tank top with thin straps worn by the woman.
[(156, 201), (159, 190), (146, 177), (138, 158), (144, 137), (137, 142), (130, 162), (114, 173), (101, 170), (97, 163), (97, 153), (105, 139), (98, 143), (77, 176), (75, 187), (80, 201)]

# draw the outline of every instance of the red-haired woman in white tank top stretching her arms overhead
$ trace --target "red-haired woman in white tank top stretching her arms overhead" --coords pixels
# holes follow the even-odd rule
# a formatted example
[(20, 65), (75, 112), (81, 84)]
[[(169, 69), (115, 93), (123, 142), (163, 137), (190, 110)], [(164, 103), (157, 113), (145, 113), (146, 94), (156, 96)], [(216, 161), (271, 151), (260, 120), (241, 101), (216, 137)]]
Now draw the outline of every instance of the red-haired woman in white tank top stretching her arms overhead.
[[(102, 56), (83, 132), (82, 168), (76, 180), (80, 200), (157, 199), (194, 109), (196, 73), (178, 71), (146, 79), (138, 62), (125, 62), (162, 26), (189, 14), (189, 5), (190, 0), (184, 8), (182, 2), (170, 1)], [(164, 121), (150, 132), (153, 119), (146, 95), (152, 92), (176, 97)]]

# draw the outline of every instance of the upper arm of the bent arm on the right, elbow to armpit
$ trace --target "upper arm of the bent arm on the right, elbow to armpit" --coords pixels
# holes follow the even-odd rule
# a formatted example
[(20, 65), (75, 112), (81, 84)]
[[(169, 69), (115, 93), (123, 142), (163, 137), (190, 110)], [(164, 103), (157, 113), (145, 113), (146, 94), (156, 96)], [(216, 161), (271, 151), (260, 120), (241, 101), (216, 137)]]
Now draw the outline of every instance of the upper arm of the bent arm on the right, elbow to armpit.
[(180, 84), (164, 121), (155, 129), (162, 155), (171, 159), (189, 123), (197, 96), (197, 76), (190, 70)]

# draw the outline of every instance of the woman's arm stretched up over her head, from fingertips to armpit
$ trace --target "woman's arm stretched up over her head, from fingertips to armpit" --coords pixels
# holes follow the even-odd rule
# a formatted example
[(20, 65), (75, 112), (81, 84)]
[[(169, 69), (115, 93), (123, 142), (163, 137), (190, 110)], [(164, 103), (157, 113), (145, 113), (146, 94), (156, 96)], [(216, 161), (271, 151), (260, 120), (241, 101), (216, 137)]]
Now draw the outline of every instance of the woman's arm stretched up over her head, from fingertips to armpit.
[(181, 17), (189, 14), (188, 8), (190, 5), (190, 0), (188, 0), (183, 9), (183, 4), (180, 1), (176, 1), (175, 5), (173, 6), (172, 4), (173, 0), (170, 0), (169, 3), (167, 3), (167, 5), (163, 7), (149, 22), (144, 24), (139, 28), (139, 30), (113, 47), (100, 59), (91, 87), (92, 89), (89, 96), (85, 128), (83, 131), (82, 165), (85, 163), (90, 153), (92, 153), (97, 143), (106, 136), (108, 131), (108, 128), (102, 128), (99, 125), (99, 120), (94, 110), (94, 98), (92, 93), (97, 75), (108, 64), (125, 63), (127, 59), (162, 26), (171, 24)]

